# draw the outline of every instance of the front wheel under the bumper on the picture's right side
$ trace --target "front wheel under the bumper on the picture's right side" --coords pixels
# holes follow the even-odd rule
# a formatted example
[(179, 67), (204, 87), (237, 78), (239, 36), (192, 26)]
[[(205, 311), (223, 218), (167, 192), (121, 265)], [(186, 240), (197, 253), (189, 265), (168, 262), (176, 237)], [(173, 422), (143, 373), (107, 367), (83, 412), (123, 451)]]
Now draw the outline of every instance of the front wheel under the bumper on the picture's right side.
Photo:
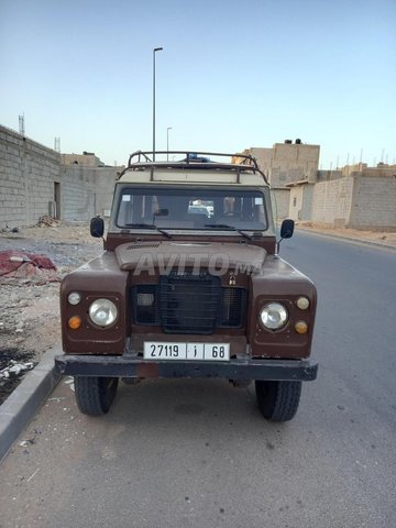
[(297, 413), (301, 382), (255, 382), (258, 408), (267, 420), (288, 421)]

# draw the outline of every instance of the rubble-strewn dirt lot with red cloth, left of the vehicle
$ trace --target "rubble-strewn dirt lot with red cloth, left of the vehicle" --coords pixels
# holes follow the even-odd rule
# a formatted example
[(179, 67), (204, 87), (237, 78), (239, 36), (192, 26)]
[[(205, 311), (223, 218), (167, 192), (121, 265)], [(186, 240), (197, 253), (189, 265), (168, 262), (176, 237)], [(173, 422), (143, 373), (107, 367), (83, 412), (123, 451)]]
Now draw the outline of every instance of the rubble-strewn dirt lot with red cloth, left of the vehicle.
[(86, 226), (41, 220), (53, 229), (0, 231), (0, 404), (61, 340), (62, 278), (102, 252)]

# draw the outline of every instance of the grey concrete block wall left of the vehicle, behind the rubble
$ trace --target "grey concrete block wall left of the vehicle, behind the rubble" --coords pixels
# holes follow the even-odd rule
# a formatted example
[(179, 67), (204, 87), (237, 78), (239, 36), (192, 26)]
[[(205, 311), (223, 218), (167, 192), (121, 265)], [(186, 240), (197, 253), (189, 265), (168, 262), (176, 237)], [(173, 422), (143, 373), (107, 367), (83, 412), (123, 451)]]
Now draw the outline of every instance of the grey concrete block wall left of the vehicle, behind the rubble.
[(0, 229), (34, 226), (59, 184), (59, 218), (88, 221), (110, 209), (118, 167), (61, 165), (61, 154), (0, 125)]

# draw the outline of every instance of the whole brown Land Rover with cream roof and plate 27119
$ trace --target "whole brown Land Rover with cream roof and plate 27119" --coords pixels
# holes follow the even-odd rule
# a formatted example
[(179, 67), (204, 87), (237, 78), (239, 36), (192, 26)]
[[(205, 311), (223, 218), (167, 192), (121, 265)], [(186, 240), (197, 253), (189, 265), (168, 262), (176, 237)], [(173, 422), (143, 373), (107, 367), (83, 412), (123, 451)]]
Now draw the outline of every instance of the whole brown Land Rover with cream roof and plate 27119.
[[(174, 161), (130, 156), (103, 254), (62, 283), (58, 372), (91, 416), (109, 410), (119, 377), (222, 377), (254, 380), (264, 417), (292, 419), (317, 375), (317, 295), (277, 254), (265, 175), (250, 156), (155, 154)], [(103, 220), (90, 229), (103, 237)], [(285, 220), (280, 239), (293, 230)]]

